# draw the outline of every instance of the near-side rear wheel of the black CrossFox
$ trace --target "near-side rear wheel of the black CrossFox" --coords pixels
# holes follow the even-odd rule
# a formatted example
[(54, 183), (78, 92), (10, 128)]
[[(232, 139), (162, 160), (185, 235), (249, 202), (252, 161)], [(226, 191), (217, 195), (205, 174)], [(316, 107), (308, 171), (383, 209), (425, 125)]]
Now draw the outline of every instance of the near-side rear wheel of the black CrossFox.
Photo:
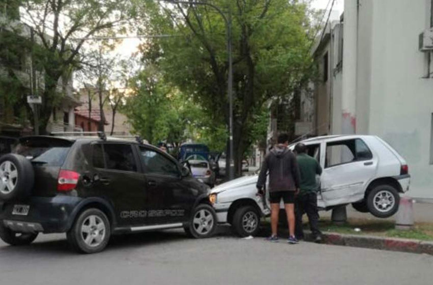
[(66, 237), (79, 253), (97, 253), (107, 246), (110, 234), (107, 216), (99, 209), (89, 208), (78, 215)]

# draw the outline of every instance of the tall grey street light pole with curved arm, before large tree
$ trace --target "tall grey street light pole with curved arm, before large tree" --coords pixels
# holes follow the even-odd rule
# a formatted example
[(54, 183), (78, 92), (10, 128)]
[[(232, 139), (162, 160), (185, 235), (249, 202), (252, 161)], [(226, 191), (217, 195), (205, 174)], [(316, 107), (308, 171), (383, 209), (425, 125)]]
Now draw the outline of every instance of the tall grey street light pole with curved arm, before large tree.
[[(229, 19), (227, 19), (226, 15), (224, 15), (223, 11), (216, 5), (206, 2), (199, 1), (178, 1), (178, 0), (158, 0), (159, 2), (167, 2), (173, 4), (189, 4), (189, 5), (207, 5), (218, 11), (220, 15), (223, 17), (224, 22), (226, 24), (226, 32), (227, 32), (227, 54), (229, 61), (229, 74), (227, 79), (227, 95), (229, 99), (229, 179), (232, 180), (234, 178), (234, 148), (233, 148), (233, 59), (232, 59), (232, 17), (229, 12)], [(233, 164), (233, 167), (232, 167)], [(226, 166), (227, 168), (227, 166)]]

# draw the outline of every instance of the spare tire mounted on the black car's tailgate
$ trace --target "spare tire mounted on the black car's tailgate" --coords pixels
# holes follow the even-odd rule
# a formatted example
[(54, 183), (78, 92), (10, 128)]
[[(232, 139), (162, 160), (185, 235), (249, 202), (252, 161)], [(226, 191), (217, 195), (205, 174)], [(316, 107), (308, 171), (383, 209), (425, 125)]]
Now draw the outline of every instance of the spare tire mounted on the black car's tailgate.
[(34, 180), (32, 163), (26, 157), (18, 154), (5, 154), (0, 157), (0, 200), (28, 197)]

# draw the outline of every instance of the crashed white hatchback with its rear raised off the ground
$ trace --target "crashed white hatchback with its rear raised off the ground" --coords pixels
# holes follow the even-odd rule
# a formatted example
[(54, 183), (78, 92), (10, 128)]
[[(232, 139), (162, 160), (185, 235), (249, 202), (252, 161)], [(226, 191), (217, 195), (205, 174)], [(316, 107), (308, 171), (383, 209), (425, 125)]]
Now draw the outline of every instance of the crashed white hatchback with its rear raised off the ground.
[[(407, 163), (389, 144), (371, 135), (334, 135), (302, 141), (323, 168), (317, 205), (329, 210), (352, 203), (379, 218), (394, 215), (400, 195), (409, 190)], [(294, 149), (295, 144), (289, 148)], [(257, 196), (257, 175), (244, 176), (211, 191), (219, 223), (229, 223), (240, 236), (257, 234), (268, 199)], [(281, 204), (281, 208), (284, 205)]]

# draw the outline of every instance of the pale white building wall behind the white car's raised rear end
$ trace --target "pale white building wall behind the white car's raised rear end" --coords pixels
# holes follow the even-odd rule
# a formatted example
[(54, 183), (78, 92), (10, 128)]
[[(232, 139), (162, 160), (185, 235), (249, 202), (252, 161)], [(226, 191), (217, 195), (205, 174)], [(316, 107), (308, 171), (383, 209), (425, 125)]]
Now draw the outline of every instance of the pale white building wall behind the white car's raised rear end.
[[(423, 78), (427, 56), (418, 51), (418, 35), (430, 27), (430, 0), (359, 0), (354, 47), (346, 43), (346, 34), (347, 27), (357, 21), (356, 3), (345, 1), (343, 112), (344, 97), (355, 83), (356, 133), (375, 134), (388, 141), (409, 164), (409, 194), (433, 199), (433, 78)], [(352, 48), (355, 54), (348, 51)], [(348, 77), (345, 73), (354, 64), (354, 55), (356, 82), (352, 73)]]

